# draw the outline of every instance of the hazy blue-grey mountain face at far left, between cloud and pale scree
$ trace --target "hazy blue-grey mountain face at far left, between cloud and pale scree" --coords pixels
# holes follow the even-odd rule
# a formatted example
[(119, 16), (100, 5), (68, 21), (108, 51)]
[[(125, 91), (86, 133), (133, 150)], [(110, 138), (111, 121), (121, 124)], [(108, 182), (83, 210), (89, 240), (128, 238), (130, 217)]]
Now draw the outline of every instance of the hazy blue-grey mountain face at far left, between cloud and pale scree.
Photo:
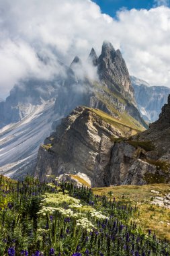
[(0, 102), (0, 129), (10, 123), (21, 121), (34, 111), (36, 106), (58, 97), (58, 88), (62, 84), (75, 83), (72, 69), (60, 63), (61, 74), (51, 80), (30, 78), (19, 82), (11, 90), (4, 102)]

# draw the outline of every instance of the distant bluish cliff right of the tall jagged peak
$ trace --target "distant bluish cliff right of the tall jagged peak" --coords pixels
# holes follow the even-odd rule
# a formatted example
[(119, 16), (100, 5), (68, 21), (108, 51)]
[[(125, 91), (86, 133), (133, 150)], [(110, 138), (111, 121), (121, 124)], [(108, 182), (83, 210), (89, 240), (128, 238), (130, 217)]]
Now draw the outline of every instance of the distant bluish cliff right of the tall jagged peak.
[(137, 77), (131, 76), (130, 79), (140, 114), (145, 121), (149, 123), (155, 122), (159, 119), (161, 108), (167, 102), (170, 88), (165, 86), (150, 86)]

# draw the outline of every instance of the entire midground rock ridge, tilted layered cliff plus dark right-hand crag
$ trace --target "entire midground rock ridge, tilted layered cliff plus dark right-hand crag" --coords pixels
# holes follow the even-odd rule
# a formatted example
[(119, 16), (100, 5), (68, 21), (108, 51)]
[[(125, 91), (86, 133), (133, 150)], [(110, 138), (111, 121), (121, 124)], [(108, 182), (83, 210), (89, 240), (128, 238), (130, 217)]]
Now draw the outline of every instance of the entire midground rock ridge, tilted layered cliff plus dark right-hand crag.
[(170, 96), (148, 130), (122, 121), (101, 110), (77, 107), (40, 147), (36, 177), (81, 172), (93, 187), (168, 183)]

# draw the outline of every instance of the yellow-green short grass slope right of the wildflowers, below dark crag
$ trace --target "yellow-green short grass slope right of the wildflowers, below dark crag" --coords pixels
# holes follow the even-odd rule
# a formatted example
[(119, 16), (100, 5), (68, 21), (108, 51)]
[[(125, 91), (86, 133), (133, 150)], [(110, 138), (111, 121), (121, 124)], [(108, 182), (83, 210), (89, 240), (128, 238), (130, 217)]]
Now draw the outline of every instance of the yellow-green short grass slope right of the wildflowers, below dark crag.
[[(159, 195), (151, 193), (151, 190), (159, 191)], [(157, 205), (151, 205), (155, 196), (163, 196), (170, 192), (168, 184), (153, 184), (144, 186), (118, 186), (93, 189), (95, 194), (108, 194), (113, 192), (113, 197), (118, 200), (132, 201), (137, 205), (138, 212), (132, 216), (132, 220), (142, 226), (144, 231), (151, 229), (159, 238), (167, 238), (170, 241), (170, 210)]]

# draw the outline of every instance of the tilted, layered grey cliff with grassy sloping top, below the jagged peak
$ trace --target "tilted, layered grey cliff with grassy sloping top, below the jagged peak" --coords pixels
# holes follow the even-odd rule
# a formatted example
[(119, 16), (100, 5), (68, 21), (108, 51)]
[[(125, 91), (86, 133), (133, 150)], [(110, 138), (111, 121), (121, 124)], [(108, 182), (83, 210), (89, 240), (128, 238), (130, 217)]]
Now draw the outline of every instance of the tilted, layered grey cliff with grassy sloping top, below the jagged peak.
[(124, 126), (118, 119), (92, 108), (77, 107), (69, 117), (62, 119), (40, 147), (36, 177), (44, 180), (47, 174), (85, 173), (93, 185), (105, 186), (107, 178), (112, 137), (136, 133)]

